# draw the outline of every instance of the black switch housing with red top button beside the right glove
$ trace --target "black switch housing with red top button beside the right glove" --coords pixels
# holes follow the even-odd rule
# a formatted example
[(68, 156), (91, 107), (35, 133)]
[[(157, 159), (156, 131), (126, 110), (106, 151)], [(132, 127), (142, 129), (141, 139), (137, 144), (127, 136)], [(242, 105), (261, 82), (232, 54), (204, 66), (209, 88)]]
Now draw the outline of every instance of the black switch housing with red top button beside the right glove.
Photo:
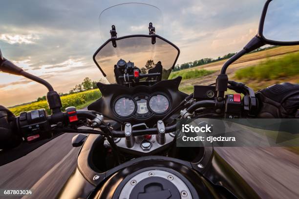
[(243, 107), (240, 94), (225, 96), (225, 118), (240, 118), (242, 108)]

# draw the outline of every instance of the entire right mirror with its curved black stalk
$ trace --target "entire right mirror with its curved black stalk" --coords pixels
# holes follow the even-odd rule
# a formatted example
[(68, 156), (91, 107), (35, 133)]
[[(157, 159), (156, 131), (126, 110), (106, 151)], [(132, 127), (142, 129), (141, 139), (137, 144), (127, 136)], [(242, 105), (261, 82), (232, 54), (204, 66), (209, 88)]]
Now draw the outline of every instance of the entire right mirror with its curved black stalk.
[(246, 53), (265, 44), (299, 45), (299, 0), (267, 0), (259, 21), (258, 33), (242, 50), (227, 60), (216, 79), (217, 101), (224, 100), (228, 77), (226, 69)]

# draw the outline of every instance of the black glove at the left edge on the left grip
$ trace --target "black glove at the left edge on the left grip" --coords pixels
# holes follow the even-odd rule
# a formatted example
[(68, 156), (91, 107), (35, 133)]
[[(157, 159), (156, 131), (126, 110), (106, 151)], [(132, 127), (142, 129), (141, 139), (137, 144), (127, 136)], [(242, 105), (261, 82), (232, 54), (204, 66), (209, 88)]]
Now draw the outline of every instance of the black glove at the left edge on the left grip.
[(0, 105), (0, 149), (14, 148), (21, 143), (15, 121), (15, 115)]

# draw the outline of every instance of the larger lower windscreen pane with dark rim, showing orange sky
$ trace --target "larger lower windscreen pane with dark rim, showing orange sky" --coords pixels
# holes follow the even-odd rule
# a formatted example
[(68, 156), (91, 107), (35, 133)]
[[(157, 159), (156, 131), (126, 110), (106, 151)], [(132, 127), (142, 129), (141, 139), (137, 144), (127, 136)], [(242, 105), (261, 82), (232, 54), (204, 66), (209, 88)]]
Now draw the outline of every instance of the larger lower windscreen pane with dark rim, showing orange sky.
[(95, 56), (95, 61), (101, 67), (104, 76), (110, 83), (115, 83), (114, 65), (122, 59), (134, 62), (143, 74), (147, 74), (159, 61), (162, 65), (162, 80), (167, 80), (171, 68), (175, 64), (178, 50), (165, 40), (156, 37), (156, 42), (151, 43), (149, 36), (135, 36), (116, 40), (117, 47), (112, 41), (106, 43)]

